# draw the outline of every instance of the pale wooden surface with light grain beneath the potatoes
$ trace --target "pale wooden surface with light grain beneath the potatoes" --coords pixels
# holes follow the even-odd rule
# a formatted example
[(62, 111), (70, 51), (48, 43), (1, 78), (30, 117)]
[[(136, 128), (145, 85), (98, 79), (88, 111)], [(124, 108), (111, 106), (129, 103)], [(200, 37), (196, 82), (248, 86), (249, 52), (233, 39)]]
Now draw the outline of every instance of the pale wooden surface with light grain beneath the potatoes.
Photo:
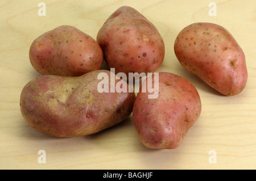
[[(256, 169), (254, 0), (212, 1), (216, 14), (214, 6), (209, 7), (211, 1), (203, 0), (43, 0), (45, 16), (39, 13), (43, 12), (39, 11), (39, 2), (0, 3), (0, 169)], [(146, 148), (139, 141), (131, 116), (115, 127), (85, 137), (54, 138), (29, 127), (20, 113), (19, 97), (24, 85), (40, 76), (28, 59), (32, 41), (64, 24), (96, 39), (108, 16), (124, 5), (141, 12), (162, 35), (166, 55), (158, 71), (181, 75), (199, 91), (202, 112), (183, 143), (172, 150)], [(218, 94), (177, 61), (175, 38), (195, 22), (220, 24), (241, 45), (249, 75), (241, 94)], [(40, 150), (45, 152), (41, 154)]]

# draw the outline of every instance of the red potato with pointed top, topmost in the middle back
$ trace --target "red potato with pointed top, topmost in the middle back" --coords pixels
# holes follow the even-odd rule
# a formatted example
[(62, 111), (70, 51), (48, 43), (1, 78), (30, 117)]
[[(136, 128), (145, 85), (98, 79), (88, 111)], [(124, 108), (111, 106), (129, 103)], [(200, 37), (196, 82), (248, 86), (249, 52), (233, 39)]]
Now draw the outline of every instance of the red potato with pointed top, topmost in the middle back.
[(129, 6), (119, 7), (98, 31), (109, 68), (117, 73), (154, 73), (164, 59), (164, 41), (154, 24)]

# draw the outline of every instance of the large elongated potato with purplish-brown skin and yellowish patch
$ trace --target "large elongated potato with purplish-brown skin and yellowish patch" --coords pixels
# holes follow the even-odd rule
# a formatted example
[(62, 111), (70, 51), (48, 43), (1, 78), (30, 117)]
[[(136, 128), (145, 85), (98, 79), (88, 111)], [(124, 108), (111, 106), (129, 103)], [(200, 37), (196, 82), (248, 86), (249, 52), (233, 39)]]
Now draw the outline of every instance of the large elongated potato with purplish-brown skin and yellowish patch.
[(133, 110), (134, 92), (98, 92), (99, 73), (110, 77), (109, 70), (95, 70), (80, 77), (42, 75), (31, 80), (20, 95), (24, 119), (54, 137), (85, 136), (125, 120)]

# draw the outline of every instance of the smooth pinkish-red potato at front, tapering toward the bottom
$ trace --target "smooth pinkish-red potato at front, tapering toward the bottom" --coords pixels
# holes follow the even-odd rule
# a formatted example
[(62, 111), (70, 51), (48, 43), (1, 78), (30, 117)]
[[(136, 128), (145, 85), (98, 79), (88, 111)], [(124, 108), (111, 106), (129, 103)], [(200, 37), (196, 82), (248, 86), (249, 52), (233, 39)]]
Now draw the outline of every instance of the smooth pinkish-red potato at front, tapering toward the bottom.
[(192, 83), (179, 75), (161, 72), (158, 98), (148, 99), (148, 92), (138, 92), (133, 107), (133, 121), (145, 146), (175, 149), (200, 113), (200, 96)]

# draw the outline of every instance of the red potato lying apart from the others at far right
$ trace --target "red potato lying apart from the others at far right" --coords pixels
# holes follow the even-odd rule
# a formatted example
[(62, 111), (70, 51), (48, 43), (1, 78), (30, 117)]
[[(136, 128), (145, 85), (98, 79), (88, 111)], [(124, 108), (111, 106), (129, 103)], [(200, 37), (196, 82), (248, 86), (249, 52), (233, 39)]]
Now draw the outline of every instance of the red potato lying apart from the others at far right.
[(185, 69), (221, 94), (237, 95), (245, 88), (245, 54), (224, 27), (193, 23), (177, 35), (174, 51)]

